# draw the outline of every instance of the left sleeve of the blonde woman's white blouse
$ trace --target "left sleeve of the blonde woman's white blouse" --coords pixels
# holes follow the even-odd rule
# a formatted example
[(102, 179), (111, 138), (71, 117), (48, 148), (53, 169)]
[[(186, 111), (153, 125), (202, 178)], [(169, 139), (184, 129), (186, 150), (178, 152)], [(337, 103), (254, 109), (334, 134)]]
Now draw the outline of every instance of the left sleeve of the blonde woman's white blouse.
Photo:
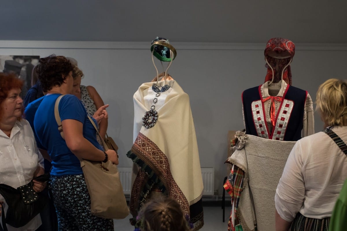
[(304, 203), (305, 183), (300, 141), (291, 150), (275, 195), (275, 207), (282, 219), (291, 222)]

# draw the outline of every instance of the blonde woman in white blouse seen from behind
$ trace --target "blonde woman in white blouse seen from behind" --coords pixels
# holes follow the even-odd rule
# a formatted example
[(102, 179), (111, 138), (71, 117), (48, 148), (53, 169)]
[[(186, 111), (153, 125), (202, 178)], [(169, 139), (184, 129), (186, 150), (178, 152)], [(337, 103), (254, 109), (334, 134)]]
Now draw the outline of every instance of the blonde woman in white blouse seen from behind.
[(325, 81), (316, 104), (327, 128), (298, 140), (289, 154), (275, 195), (276, 231), (328, 231), (347, 178), (347, 80)]

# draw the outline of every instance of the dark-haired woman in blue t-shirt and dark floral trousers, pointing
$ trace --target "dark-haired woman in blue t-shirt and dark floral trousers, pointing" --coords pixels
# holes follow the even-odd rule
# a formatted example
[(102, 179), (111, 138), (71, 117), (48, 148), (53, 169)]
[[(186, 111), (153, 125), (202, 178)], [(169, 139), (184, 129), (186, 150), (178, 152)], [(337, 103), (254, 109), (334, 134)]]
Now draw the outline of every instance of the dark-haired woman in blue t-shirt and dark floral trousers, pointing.
[[(58, 230), (113, 231), (113, 220), (91, 214), (91, 200), (79, 159), (112, 161), (118, 164), (113, 150), (103, 151), (96, 140), (96, 130), (73, 89), (74, 66), (64, 56), (41, 58), (37, 75), (43, 91), (47, 92), (36, 111), (34, 127), (42, 146), (52, 160), (51, 185), (58, 215)], [(60, 95), (59, 115), (65, 140), (61, 137), (54, 117), (54, 104)], [(97, 125), (107, 118), (102, 106), (93, 115)]]

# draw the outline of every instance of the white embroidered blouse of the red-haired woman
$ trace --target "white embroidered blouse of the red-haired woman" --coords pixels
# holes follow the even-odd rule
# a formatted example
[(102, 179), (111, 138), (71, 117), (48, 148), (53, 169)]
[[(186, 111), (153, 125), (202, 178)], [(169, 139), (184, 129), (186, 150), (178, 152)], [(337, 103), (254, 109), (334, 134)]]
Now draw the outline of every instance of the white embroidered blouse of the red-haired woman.
[[(33, 179), (37, 166), (43, 168), (43, 157), (36, 146), (33, 130), (27, 120), (17, 121), (10, 137), (0, 130), (0, 183), (13, 188), (26, 185)], [(0, 201), (5, 201), (1, 195)], [(6, 214), (6, 202), (2, 206)], [(7, 228), (9, 231), (32, 231), (40, 225), (39, 214), (21, 228), (13, 228), (10, 225), (7, 225)]]

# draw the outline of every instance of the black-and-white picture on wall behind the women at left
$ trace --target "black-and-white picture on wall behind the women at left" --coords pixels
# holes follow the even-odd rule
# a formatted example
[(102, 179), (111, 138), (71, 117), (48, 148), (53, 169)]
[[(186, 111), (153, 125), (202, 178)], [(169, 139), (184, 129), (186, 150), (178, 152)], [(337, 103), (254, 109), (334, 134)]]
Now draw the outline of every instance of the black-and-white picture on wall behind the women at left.
[(27, 91), (35, 84), (36, 79), (32, 79), (32, 71), (39, 63), (38, 55), (0, 55), (0, 72), (15, 73), (18, 78), (24, 81), (22, 97), (24, 99)]

